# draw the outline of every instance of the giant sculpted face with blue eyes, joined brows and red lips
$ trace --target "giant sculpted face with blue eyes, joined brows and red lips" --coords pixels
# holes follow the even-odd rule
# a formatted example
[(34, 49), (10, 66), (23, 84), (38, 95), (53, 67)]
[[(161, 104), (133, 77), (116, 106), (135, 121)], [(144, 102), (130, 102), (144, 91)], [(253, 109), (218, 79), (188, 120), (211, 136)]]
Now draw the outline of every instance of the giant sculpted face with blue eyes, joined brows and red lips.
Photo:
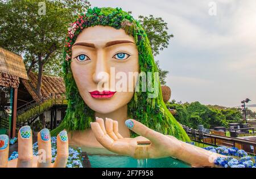
[[(71, 69), (82, 99), (98, 113), (110, 113), (129, 103), (134, 92), (115, 88), (116, 74), (139, 71), (134, 38), (123, 29), (97, 25), (84, 29), (72, 47)], [(114, 74), (112, 72), (114, 72)], [(111, 76), (110, 76), (111, 74)], [(135, 80), (133, 86), (135, 86)], [(111, 85), (114, 84), (114, 85)], [(100, 91), (98, 88), (102, 88)]]

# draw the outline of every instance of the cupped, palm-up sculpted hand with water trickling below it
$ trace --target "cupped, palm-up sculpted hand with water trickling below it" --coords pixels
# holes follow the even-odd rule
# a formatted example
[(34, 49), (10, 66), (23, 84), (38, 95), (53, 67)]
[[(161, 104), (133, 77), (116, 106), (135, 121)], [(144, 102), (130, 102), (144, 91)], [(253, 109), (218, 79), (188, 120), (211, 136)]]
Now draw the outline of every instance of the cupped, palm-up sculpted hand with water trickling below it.
[[(118, 133), (118, 122), (108, 118), (105, 125), (102, 118), (97, 118), (96, 122), (91, 123), (91, 127), (98, 142), (117, 154), (145, 159), (175, 156), (180, 150), (181, 143), (174, 137), (160, 134), (135, 120), (127, 120), (125, 123), (129, 129), (144, 138), (123, 138)], [(150, 144), (140, 145), (139, 143), (146, 142), (145, 138), (150, 140)]]

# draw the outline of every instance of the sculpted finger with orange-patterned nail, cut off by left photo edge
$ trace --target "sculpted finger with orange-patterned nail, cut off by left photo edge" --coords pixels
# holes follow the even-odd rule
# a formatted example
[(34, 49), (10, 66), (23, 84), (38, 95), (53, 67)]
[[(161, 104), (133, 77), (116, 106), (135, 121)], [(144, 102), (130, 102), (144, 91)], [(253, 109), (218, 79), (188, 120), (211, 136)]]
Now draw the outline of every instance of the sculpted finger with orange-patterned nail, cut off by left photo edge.
[(0, 168), (6, 168), (9, 156), (9, 137), (0, 135)]

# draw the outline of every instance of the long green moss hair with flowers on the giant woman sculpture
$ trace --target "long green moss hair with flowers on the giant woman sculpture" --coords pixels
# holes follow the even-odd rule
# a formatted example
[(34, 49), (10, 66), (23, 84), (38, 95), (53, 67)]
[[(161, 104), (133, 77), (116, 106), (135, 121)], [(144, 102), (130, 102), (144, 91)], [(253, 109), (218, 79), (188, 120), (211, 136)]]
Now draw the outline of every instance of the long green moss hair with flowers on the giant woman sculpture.
[[(89, 8), (87, 12), (80, 14), (76, 22), (71, 24), (64, 48), (64, 82), (67, 92), (68, 108), (63, 122), (51, 132), (57, 135), (61, 130), (68, 131), (85, 130), (94, 121), (94, 111), (84, 103), (77, 88), (71, 71), (71, 48), (82, 29), (95, 25), (110, 26), (115, 29), (124, 29), (127, 35), (133, 36), (139, 52), (139, 72), (158, 72), (148, 37), (141, 24), (129, 13), (121, 8)], [(152, 76), (152, 86), (158, 83), (158, 96), (150, 98), (151, 93), (141, 90), (141, 78), (139, 80), (139, 92), (134, 92), (133, 99), (128, 104), (128, 116), (153, 130), (168, 134), (183, 141), (190, 141), (183, 127), (175, 120), (163, 102), (158, 76)], [(133, 134), (135, 135), (135, 134)]]

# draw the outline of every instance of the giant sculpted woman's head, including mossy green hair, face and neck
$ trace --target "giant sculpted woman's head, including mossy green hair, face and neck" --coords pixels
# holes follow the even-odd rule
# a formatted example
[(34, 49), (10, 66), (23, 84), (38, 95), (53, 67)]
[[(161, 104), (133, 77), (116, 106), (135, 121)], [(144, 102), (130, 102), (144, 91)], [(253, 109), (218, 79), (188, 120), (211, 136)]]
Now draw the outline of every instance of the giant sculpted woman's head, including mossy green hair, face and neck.
[[(63, 129), (74, 132), (90, 130), (90, 122), (98, 116), (118, 120), (119, 129), (123, 125), (126, 130), (125, 120), (134, 118), (151, 129), (189, 141), (163, 102), (158, 76), (149, 78), (148, 73), (158, 71), (150, 41), (142, 26), (129, 13), (120, 8), (95, 7), (78, 15), (68, 29), (63, 67), (68, 109), (64, 121), (51, 132), (52, 135)], [(122, 90), (115, 88), (115, 84), (112, 86), (110, 78), (118, 79), (118, 73), (129, 76), (129, 73), (138, 72), (146, 74), (147, 83), (158, 89), (158, 95), (149, 97), (152, 91), (148, 88), (143, 91), (142, 79), (136, 75), (134, 79), (139, 82), (136, 86), (139, 91), (134, 92), (134, 79), (126, 80), (126, 87)], [(130, 80), (133, 88), (130, 88)], [(90, 133), (80, 136), (90, 138)]]

